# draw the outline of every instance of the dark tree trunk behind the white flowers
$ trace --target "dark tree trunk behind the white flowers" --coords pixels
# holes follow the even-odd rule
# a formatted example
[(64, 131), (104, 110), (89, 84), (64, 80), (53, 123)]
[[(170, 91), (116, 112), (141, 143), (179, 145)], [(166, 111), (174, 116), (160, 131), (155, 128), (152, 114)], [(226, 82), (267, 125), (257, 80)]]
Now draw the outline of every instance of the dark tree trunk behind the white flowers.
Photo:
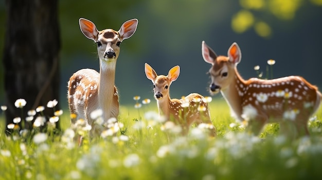
[[(28, 110), (46, 107), (48, 101), (59, 99), (61, 42), (58, 0), (7, 0), (6, 10), (3, 63), (8, 125), (14, 117), (25, 119)], [(27, 101), (23, 115), (14, 106), (18, 98)], [(53, 116), (53, 109), (46, 108), (43, 112), (46, 117)], [(59, 129), (59, 124), (56, 127)], [(32, 126), (26, 124), (26, 128)], [(6, 133), (10, 130), (6, 129)]]

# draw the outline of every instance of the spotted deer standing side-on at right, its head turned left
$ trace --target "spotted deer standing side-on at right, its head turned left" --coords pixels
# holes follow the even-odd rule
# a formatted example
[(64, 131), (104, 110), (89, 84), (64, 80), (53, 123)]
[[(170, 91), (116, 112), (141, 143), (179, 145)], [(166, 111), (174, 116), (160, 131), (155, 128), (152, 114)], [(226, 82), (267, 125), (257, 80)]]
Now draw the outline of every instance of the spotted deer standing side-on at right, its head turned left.
[(318, 110), (321, 93), (301, 76), (245, 80), (237, 70), (241, 50), (232, 43), (227, 56), (218, 56), (202, 42), (202, 56), (211, 64), (210, 93), (221, 92), (237, 121), (246, 132), (259, 135), (267, 123), (279, 123), (280, 132), (290, 138), (309, 135), (308, 121)]

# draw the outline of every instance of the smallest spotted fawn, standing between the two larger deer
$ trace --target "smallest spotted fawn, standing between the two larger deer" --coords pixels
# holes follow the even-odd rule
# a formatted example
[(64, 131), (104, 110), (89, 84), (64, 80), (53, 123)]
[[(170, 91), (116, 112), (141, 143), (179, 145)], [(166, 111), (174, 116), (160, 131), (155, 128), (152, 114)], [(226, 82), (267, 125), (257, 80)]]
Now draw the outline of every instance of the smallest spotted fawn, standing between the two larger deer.
[(208, 103), (198, 93), (191, 93), (181, 99), (170, 98), (170, 85), (180, 74), (180, 66), (174, 66), (168, 75), (157, 75), (155, 70), (145, 63), (145, 73), (153, 83), (154, 98), (160, 115), (166, 117), (167, 121), (174, 120), (182, 127), (182, 134), (187, 135), (192, 124), (207, 124), (210, 136), (216, 136), (216, 128), (210, 119)]

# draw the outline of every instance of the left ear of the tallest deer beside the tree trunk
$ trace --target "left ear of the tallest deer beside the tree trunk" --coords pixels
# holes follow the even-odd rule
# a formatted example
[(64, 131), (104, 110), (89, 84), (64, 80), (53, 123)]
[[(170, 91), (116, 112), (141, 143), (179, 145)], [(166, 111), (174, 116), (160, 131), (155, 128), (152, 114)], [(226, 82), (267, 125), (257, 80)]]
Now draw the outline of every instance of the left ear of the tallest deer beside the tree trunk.
[(93, 41), (97, 42), (98, 37), (98, 30), (96, 29), (96, 26), (91, 21), (80, 18), (79, 19), (79, 26), (81, 28), (82, 33), (89, 39), (92, 39)]

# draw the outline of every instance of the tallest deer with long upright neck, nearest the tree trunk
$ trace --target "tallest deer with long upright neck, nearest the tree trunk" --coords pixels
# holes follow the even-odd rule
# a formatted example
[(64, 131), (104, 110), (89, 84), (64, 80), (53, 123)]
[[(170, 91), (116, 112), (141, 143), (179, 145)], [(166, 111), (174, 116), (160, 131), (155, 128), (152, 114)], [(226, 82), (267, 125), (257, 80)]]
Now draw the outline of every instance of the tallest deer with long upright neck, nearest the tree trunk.
[[(120, 44), (136, 31), (137, 19), (124, 22), (118, 31), (113, 29), (97, 30), (95, 24), (85, 18), (79, 19), (81, 32), (97, 45), (100, 70), (81, 69), (71, 75), (68, 81), (68, 105), (71, 114), (91, 125), (90, 134), (98, 134), (102, 129), (97, 126), (91, 113), (102, 110), (103, 121), (119, 115), (118, 91), (115, 86), (116, 61), (120, 53)], [(71, 125), (76, 118), (71, 119)], [(78, 137), (79, 143), (81, 137)]]

